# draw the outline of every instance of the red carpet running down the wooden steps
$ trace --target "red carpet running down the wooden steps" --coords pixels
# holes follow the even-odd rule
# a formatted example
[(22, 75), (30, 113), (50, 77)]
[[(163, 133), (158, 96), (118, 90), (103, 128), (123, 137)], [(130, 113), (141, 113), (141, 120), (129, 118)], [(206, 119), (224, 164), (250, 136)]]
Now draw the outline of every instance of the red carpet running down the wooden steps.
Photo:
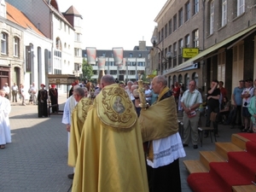
[(229, 152), (229, 161), (210, 163), (210, 172), (191, 173), (188, 183), (193, 191), (227, 192), (232, 186), (256, 182), (256, 134), (239, 135), (252, 141), (246, 143), (247, 151)]

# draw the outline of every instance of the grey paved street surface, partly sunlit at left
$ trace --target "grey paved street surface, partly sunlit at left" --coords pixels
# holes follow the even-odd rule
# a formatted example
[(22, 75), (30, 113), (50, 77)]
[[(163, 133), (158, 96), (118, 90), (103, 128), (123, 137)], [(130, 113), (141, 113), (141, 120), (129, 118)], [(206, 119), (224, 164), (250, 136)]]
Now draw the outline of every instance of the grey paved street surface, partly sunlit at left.
[[(63, 110), (66, 95), (59, 97)], [(1, 192), (67, 192), (72, 180), (67, 174), (73, 168), (67, 166), (67, 131), (61, 124), (61, 115), (38, 118), (36, 105), (21, 106), (12, 103), (9, 115), (12, 143), (0, 150)], [(218, 142), (230, 142), (231, 134), (238, 129), (219, 126)], [(186, 182), (188, 172), (183, 160), (199, 159), (199, 150), (214, 150), (210, 138), (204, 138), (203, 147), (185, 148), (187, 156), (180, 160), (183, 192), (191, 192)]]

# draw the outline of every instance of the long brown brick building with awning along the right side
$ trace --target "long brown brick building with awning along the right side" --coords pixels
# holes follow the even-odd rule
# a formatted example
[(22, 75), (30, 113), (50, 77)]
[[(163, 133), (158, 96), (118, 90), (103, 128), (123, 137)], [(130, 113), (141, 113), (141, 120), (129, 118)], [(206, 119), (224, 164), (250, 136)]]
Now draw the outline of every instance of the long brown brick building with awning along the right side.
[[(168, 0), (154, 20), (160, 49), (150, 61), (159, 61), (159, 73), (168, 84), (188, 85), (195, 79), (207, 90), (212, 79), (232, 90), (240, 79), (256, 78), (256, 2), (254, 0)], [(183, 58), (183, 48), (199, 54)], [(171, 61), (161, 59), (170, 51)], [(154, 66), (154, 65), (153, 65)]]

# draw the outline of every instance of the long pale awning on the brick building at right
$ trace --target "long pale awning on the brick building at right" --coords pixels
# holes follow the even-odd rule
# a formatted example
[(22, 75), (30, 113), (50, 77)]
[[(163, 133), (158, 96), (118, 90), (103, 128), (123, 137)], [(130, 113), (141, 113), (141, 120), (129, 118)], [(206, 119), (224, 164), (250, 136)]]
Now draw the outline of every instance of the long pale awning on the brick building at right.
[(225, 44), (230, 43), (231, 41), (235, 40), (236, 38), (240, 38), (241, 36), (247, 34), (247, 32), (250, 32), (251, 30), (253, 30), (254, 28), (256, 28), (256, 25), (254, 26), (250, 26), (247, 29), (243, 30), (242, 32), (238, 32), (236, 35), (233, 35), (230, 38), (226, 38), (224, 41), (218, 43), (218, 44), (214, 44), (212, 47), (203, 50), (200, 54), (195, 55), (193, 58), (189, 59), (188, 61), (183, 62), (182, 64), (180, 64), (177, 67), (174, 67), (172, 69), (169, 69), (166, 71), (165, 74), (168, 73), (173, 73), (173, 72), (177, 72), (185, 67), (191, 67), (194, 65), (194, 61), (198, 61), (199, 59), (201, 59), (203, 56), (206, 56), (210, 53), (212, 53), (212, 51), (217, 50), (221, 47), (223, 47)]

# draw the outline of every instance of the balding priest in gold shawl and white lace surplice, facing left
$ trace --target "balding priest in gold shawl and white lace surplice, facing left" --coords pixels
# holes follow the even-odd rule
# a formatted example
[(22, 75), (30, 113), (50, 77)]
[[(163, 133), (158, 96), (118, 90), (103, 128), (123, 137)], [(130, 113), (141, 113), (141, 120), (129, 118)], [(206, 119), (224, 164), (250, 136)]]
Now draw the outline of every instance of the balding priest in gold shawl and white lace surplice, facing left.
[(158, 99), (146, 110), (141, 110), (139, 117), (143, 142), (148, 142), (149, 191), (181, 192), (179, 158), (186, 154), (178, 133), (175, 99), (165, 76), (154, 77), (152, 89)]

